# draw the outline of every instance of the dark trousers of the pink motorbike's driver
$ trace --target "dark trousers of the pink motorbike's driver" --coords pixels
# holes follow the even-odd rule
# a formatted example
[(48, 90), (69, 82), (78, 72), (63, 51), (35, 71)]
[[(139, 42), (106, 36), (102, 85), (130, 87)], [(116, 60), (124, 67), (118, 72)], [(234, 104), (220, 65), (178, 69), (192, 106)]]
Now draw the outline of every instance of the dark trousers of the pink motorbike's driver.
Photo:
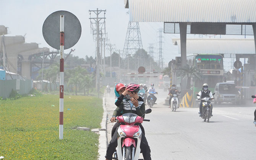
[[(118, 127), (116, 128), (115, 133), (113, 134), (112, 139), (109, 142), (109, 145), (107, 147), (107, 153), (105, 155), (105, 158), (107, 158), (108, 160), (112, 160), (113, 153), (115, 152), (115, 149), (117, 147), (117, 134), (118, 134), (117, 130), (118, 130)], [(151, 155), (150, 155), (151, 151), (144, 133), (142, 133), (142, 136), (141, 136), (140, 148), (141, 148), (141, 152), (143, 154), (144, 160), (151, 160)]]

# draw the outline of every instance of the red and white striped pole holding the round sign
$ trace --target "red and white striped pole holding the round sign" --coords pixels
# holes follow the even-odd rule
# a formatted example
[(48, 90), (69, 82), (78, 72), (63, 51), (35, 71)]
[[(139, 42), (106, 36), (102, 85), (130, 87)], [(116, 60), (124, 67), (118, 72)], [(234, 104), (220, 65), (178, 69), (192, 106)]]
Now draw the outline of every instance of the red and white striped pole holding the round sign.
[(64, 15), (60, 15), (60, 126), (59, 139), (63, 139), (63, 110), (64, 110)]

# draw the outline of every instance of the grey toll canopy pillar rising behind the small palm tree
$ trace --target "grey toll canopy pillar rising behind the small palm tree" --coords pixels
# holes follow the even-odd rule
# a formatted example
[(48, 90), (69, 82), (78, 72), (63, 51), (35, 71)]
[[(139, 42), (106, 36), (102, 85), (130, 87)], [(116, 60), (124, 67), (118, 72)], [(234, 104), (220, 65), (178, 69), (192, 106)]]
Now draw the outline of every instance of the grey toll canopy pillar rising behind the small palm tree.
[[(186, 66), (186, 34), (187, 34), (187, 23), (180, 22), (180, 51), (181, 51), (181, 67)], [(185, 94), (186, 90), (186, 78), (181, 79), (181, 96)]]

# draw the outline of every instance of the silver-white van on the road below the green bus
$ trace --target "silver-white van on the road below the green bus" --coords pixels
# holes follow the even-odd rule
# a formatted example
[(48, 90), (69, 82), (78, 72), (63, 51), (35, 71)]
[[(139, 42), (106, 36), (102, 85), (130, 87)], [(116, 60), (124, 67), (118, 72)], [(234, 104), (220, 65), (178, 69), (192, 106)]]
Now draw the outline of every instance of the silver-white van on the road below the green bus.
[(220, 104), (221, 102), (232, 102), (233, 104), (238, 104), (240, 100), (240, 92), (235, 88), (235, 83), (217, 83), (214, 93), (214, 104)]

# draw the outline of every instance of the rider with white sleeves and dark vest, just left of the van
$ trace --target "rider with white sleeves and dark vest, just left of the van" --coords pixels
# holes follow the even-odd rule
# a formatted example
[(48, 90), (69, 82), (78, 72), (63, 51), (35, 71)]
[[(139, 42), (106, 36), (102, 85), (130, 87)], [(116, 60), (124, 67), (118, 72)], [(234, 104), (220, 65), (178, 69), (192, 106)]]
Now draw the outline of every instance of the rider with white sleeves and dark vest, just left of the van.
[[(203, 99), (204, 97), (209, 97), (211, 99), (213, 99), (213, 96), (212, 96), (212, 92), (210, 90), (208, 90), (208, 84), (207, 83), (204, 83), (203, 84), (203, 88), (201, 91), (199, 91), (199, 96), (197, 96), (198, 99)], [(202, 113), (203, 112), (203, 102), (201, 100), (200, 102), (200, 106), (199, 106), (199, 117), (202, 117)], [(211, 113), (210, 113), (211, 117), (213, 116), (212, 115), (212, 106), (211, 106)]]

